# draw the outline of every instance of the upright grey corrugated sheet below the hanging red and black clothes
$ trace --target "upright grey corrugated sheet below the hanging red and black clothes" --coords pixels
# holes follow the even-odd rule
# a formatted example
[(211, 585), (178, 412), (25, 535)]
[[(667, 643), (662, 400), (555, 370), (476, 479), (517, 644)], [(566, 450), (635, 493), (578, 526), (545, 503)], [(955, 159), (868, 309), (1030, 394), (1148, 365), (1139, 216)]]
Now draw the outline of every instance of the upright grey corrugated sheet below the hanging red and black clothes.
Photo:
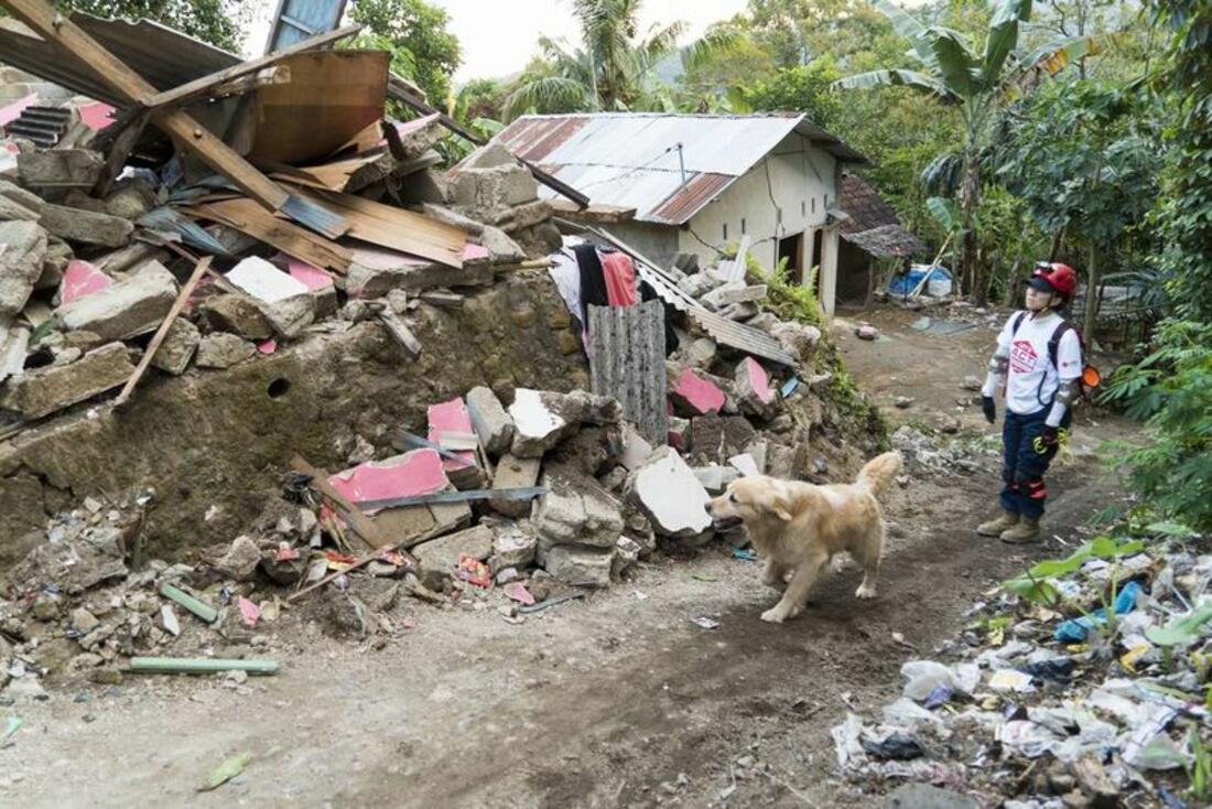
[(590, 306), (589, 343), (593, 392), (618, 399), (640, 435), (663, 446), (669, 434), (664, 306)]

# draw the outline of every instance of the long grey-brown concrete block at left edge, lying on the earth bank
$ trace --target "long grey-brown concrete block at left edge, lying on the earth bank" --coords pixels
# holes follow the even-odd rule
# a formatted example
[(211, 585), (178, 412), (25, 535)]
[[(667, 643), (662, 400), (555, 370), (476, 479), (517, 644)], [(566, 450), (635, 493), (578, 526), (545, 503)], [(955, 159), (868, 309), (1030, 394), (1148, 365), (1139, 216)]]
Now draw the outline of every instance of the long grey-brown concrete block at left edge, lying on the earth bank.
[(126, 346), (109, 343), (70, 365), (15, 376), (0, 395), (0, 406), (16, 410), (25, 418), (40, 418), (124, 384), (133, 372)]

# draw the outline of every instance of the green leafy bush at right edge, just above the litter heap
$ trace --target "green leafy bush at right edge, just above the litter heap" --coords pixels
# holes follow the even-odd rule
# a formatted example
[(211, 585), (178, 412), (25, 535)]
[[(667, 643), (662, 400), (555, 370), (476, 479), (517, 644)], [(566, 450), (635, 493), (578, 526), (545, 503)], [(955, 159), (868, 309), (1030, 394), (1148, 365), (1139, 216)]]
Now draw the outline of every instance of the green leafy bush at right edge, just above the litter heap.
[(1167, 320), (1159, 348), (1117, 369), (1102, 401), (1124, 406), (1154, 433), (1149, 446), (1117, 465), (1133, 489), (1161, 514), (1212, 530), (1212, 324)]

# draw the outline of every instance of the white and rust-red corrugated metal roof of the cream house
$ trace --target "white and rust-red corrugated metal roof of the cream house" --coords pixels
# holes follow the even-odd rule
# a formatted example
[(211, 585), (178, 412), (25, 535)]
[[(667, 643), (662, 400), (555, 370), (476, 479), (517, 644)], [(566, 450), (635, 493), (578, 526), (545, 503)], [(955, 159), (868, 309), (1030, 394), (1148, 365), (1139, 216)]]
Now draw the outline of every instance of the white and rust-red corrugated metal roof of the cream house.
[[(804, 115), (598, 113), (525, 115), (494, 138), (635, 218), (682, 224), (796, 132), (839, 160), (865, 163)], [(544, 192), (547, 194), (547, 192)]]

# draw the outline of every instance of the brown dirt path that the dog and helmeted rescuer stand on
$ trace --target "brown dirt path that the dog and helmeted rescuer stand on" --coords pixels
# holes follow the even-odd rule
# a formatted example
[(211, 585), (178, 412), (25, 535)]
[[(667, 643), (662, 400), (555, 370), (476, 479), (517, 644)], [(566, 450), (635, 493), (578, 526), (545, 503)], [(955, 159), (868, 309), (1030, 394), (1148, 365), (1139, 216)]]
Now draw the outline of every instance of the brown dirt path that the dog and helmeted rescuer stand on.
[[(890, 418), (931, 425), (945, 412), (991, 433), (955, 400), (971, 397), (960, 381), (983, 372), (993, 330), (937, 337), (909, 329), (916, 314), (862, 317), (891, 340), (856, 340), (856, 313), (842, 313), (840, 347)], [(915, 403), (896, 410), (897, 395)], [(836, 774), (829, 728), (847, 705), (891, 701), (904, 661), (931, 656), (997, 581), (1079, 539), (1116, 500), (1092, 450), (1130, 429), (1085, 421), (1053, 477), (1044, 546), (973, 534), (996, 488), (990, 456), (977, 474), (915, 478), (892, 494), (877, 599), (856, 600), (859, 572), (846, 568), (782, 626), (759, 620), (773, 593), (758, 564), (722, 543), (659, 556), (521, 625), (404, 600), (393, 617), (415, 628), (381, 650), (316, 628), (282, 642), (291, 651), (275, 677), (127, 677), (6, 710), (24, 725), (0, 750), (0, 805), (880, 805)], [(253, 757), (244, 775), (195, 792), (241, 751)]]

